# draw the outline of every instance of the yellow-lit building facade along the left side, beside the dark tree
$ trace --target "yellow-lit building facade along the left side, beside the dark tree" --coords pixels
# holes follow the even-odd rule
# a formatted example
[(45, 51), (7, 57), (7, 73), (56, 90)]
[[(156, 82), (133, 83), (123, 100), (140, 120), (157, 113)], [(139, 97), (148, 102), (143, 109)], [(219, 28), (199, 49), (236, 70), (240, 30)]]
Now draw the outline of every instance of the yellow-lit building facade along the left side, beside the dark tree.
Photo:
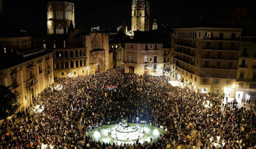
[[(32, 107), (32, 99), (38, 96), (45, 87), (53, 87), (53, 51), (33, 49), (20, 53), (15, 63), (2, 66), (0, 84), (10, 86), (17, 95), (19, 110)], [(10, 59), (13, 60), (13, 59)], [(9, 60), (9, 61), (10, 61)]]

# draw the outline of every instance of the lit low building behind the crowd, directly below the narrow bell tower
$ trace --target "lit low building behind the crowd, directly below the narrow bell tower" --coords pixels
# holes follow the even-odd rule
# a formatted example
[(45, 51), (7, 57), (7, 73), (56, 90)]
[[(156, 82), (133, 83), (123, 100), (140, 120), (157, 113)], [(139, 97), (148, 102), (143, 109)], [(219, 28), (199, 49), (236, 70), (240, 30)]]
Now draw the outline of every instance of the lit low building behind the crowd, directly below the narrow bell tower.
[(125, 73), (163, 75), (164, 68), (169, 67), (170, 51), (159, 42), (127, 42)]

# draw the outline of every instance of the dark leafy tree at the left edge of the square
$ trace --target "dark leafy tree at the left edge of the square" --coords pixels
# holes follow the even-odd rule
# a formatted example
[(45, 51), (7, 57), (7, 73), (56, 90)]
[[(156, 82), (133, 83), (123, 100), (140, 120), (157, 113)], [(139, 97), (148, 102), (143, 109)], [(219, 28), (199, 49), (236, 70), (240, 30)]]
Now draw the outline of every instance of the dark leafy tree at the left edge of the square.
[(17, 96), (9, 86), (0, 85), (0, 120), (10, 117), (18, 110)]

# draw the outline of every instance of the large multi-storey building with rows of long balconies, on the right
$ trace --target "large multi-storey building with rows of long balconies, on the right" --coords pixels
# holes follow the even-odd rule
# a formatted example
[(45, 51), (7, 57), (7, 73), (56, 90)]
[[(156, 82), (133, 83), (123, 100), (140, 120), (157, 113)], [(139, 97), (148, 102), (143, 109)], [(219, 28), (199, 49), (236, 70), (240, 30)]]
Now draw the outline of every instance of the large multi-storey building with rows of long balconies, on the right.
[(173, 78), (197, 93), (234, 96), (241, 30), (174, 29)]

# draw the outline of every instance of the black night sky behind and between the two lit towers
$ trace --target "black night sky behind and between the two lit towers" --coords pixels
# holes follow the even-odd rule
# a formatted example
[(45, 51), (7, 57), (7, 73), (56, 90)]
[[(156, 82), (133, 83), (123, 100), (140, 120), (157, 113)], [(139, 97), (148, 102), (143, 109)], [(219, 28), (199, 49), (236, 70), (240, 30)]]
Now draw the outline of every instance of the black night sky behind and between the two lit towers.
[[(200, 15), (214, 15), (222, 10), (229, 10), (234, 5), (247, 5), (232, 3), (225, 4), (215, 1), (150, 1), (150, 24), (154, 18), (157, 23), (168, 23), (169, 27), (179, 27), (187, 18), (199, 18)], [(4, 13), (11, 16), (10, 26), (32, 30), (46, 30), (46, 0), (13, 1), (3, 0)], [(101, 27), (101, 29), (116, 29), (122, 21), (131, 26), (132, 0), (88, 1), (69, 0), (75, 4), (76, 28)], [(169, 4), (170, 3), (170, 4)], [(251, 2), (252, 3), (252, 2)]]

